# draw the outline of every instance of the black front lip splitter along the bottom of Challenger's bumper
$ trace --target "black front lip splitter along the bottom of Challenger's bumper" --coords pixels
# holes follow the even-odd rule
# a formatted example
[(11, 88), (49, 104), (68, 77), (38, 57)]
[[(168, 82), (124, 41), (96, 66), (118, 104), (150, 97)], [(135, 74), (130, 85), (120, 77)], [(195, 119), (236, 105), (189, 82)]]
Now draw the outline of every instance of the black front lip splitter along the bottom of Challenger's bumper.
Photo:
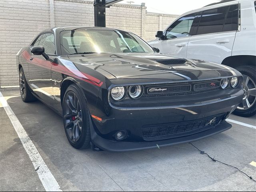
[(151, 141), (151, 142), (120, 142), (120, 141), (107, 140), (100, 137), (93, 129), (91, 129), (91, 137), (92, 137), (92, 142), (102, 150), (106, 150), (109, 152), (128, 152), (128, 151), (154, 149), (154, 148), (172, 146), (172, 145), (183, 144), (188, 142), (194, 142), (196, 140), (200, 140), (200, 139), (224, 132), (230, 129), (231, 127), (232, 127), (231, 124), (229, 124), (226, 121), (223, 121), (218, 126), (203, 132), (199, 132), (196, 134), (183, 136), (179, 138), (172, 138), (168, 140)]

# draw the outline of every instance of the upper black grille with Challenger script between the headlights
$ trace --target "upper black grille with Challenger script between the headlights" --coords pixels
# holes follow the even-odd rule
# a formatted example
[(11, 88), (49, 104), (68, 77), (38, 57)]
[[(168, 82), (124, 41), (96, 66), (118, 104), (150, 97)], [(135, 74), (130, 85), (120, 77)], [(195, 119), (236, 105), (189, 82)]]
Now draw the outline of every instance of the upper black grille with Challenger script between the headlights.
[(183, 96), (206, 93), (219, 89), (220, 80), (145, 85), (142, 98), (151, 98), (154, 96)]

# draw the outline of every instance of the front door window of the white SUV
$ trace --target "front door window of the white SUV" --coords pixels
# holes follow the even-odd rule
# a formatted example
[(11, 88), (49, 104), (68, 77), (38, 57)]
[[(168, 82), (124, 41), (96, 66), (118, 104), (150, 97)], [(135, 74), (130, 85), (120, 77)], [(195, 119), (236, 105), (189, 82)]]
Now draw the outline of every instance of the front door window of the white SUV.
[(186, 37), (191, 34), (191, 26), (198, 13), (189, 14), (174, 22), (166, 31), (166, 39)]

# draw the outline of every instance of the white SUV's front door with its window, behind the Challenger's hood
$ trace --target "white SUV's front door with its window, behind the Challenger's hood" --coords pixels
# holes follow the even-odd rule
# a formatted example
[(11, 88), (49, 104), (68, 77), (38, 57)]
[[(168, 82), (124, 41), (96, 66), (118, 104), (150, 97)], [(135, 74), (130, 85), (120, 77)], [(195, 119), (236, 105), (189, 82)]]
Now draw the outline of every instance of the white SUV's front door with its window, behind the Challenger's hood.
[(157, 47), (160, 53), (186, 58), (193, 22), (197, 16), (198, 13), (193, 13), (176, 20), (164, 32), (164, 38), (158, 39), (154, 47)]

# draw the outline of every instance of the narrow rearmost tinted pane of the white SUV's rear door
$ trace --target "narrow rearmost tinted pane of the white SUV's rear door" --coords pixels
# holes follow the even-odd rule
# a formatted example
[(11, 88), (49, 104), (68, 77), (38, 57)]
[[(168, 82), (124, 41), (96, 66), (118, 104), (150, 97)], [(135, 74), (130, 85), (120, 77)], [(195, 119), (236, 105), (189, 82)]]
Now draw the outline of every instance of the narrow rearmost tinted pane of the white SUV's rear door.
[(238, 30), (238, 4), (229, 7), (222, 31), (236, 30)]

